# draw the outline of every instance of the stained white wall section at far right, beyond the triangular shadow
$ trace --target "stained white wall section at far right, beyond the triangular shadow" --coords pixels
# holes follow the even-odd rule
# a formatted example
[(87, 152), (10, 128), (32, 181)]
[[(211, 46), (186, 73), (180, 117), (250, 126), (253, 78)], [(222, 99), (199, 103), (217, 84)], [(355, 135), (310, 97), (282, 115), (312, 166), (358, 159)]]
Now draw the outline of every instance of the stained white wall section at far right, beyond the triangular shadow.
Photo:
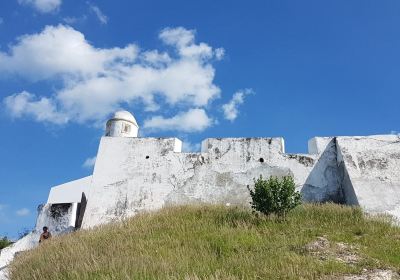
[(337, 137), (348, 204), (397, 217), (400, 207), (400, 137)]

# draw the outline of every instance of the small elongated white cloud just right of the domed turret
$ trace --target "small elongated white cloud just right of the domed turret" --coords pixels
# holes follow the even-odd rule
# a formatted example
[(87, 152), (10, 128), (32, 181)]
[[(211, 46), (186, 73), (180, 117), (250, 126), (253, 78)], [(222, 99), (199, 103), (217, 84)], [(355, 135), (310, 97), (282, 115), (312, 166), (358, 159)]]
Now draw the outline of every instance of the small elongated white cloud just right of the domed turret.
[(204, 109), (190, 109), (181, 112), (172, 118), (155, 116), (144, 121), (144, 128), (150, 130), (175, 130), (184, 132), (203, 131), (212, 125), (212, 119)]

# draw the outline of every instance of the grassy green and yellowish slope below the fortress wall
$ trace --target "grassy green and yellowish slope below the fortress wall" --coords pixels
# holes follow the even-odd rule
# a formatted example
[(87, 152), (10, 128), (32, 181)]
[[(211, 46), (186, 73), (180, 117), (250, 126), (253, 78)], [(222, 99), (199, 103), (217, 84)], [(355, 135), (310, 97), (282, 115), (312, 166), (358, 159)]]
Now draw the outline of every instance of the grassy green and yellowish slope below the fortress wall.
[[(356, 245), (362, 261), (305, 252), (318, 236)], [(279, 221), (185, 206), (53, 238), (19, 255), (11, 279), (319, 279), (363, 268), (400, 269), (400, 229), (358, 208), (302, 205)]]

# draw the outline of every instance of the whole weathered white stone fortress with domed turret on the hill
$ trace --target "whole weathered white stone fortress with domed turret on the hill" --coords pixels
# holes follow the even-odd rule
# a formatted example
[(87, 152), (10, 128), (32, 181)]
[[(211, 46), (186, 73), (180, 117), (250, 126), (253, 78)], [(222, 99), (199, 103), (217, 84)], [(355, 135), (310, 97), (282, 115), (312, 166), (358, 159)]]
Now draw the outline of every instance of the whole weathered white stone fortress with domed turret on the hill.
[(283, 138), (209, 138), (201, 152), (183, 153), (177, 138), (141, 138), (138, 131), (131, 113), (114, 114), (93, 174), (51, 188), (35, 230), (1, 252), (0, 279), (15, 252), (37, 246), (44, 225), (57, 235), (168, 205), (249, 206), (247, 185), (260, 175), (293, 176), (304, 201), (400, 217), (397, 135), (315, 137), (309, 154), (285, 153)]

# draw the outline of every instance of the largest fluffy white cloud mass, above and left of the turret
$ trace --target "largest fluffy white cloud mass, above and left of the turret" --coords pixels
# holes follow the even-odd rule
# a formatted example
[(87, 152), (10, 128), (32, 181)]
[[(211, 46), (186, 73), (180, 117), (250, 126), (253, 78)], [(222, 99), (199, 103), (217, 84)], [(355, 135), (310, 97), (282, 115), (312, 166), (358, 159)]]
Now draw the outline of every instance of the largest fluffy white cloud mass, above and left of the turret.
[[(201, 131), (212, 124), (205, 108), (220, 96), (214, 62), (224, 50), (196, 43), (195, 31), (183, 27), (165, 28), (159, 39), (168, 51), (140, 50), (136, 44), (96, 48), (65, 25), (21, 36), (0, 52), (0, 74), (61, 86), (40, 95), (14, 93), (3, 103), (15, 118), (54, 124), (103, 121), (128, 104), (155, 114), (145, 122), (149, 129)], [(161, 106), (176, 116), (156, 113)]]

